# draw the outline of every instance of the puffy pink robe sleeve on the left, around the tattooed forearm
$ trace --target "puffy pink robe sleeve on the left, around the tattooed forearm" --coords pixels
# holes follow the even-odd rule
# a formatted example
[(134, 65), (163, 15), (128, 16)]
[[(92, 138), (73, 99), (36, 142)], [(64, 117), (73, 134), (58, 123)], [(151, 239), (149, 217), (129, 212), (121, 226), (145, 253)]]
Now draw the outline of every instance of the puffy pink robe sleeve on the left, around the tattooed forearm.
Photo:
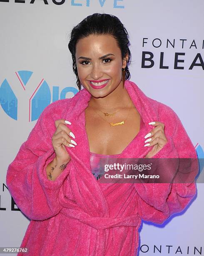
[(72, 161), (55, 181), (47, 179), (46, 167), (55, 158), (52, 146), (56, 129), (52, 118), (53, 103), (43, 110), (27, 141), (22, 143), (7, 169), (9, 192), (17, 207), (30, 220), (45, 220), (60, 212), (62, 206), (58, 195), (63, 193), (62, 184), (69, 174)]

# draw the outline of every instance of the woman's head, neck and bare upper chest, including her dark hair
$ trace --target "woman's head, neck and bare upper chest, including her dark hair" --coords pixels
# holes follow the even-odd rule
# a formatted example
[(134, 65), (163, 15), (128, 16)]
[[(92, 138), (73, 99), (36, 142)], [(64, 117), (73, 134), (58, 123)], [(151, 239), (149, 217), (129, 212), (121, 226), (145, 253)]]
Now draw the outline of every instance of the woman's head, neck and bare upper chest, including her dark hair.
[[(111, 16), (107, 17), (102, 15), (98, 19), (97, 26), (104, 31), (97, 33), (95, 27), (95, 33), (77, 40), (74, 35), (79, 35), (78, 30), (81, 29), (80, 26), (83, 27), (83, 24), (78, 25), (72, 31), (69, 44), (69, 49), (74, 49), (73, 69), (77, 75), (79, 90), (82, 84), (92, 95), (85, 110), (90, 151), (105, 155), (121, 153), (124, 146), (137, 135), (140, 126), (140, 115), (124, 88), (124, 79), (129, 77), (127, 32), (117, 18), (109, 20)], [(107, 26), (109, 22), (112, 23)], [(94, 26), (91, 26), (89, 30), (93, 31)], [(72, 41), (77, 41), (75, 46)], [(124, 50), (121, 51), (119, 46)], [(130, 122), (133, 125), (129, 125)], [(127, 123), (128, 130), (124, 123)], [(113, 132), (112, 127), (116, 125), (117, 130)]]

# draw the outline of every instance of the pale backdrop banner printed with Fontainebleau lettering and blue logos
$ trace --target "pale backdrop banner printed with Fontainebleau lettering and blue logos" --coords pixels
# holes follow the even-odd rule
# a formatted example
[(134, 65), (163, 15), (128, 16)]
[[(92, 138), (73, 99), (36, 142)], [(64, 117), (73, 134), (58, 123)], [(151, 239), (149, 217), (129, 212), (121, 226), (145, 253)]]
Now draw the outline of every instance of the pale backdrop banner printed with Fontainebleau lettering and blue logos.
[[(203, 10), (202, 0), (0, 0), (1, 247), (20, 247), (29, 224), (7, 189), (7, 167), (42, 110), (78, 92), (68, 43), (87, 15), (108, 13), (122, 21), (130, 80), (177, 113), (204, 158)], [(197, 196), (183, 212), (162, 225), (144, 221), (139, 256), (204, 255), (203, 195), (197, 182)]]

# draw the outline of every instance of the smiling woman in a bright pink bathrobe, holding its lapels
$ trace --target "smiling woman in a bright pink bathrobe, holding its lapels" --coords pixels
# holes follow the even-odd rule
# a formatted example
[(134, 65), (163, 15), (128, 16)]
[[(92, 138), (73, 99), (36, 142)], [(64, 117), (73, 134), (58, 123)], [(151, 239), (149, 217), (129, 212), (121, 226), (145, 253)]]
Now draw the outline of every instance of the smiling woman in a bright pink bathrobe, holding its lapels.
[(189, 183), (100, 182), (100, 157), (197, 159), (174, 111), (127, 80), (127, 36), (108, 14), (73, 28), (69, 49), (84, 89), (45, 108), (8, 168), (10, 193), (31, 220), (27, 255), (137, 255), (141, 220), (164, 223), (196, 194), (197, 164)]

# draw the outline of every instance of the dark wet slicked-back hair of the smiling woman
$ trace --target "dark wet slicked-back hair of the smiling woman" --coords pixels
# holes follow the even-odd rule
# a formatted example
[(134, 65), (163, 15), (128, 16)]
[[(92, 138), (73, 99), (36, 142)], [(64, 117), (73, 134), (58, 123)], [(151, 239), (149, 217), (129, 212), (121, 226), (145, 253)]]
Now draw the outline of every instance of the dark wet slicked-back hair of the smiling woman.
[[(112, 35), (119, 46), (122, 54), (122, 59), (128, 54), (127, 64), (130, 62), (131, 54), (129, 50), (129, 40), (126, 28), (123, 26), (119, 18), (106, 13), (94, 13), (87, 16), (77, 26), (72, 29), (68, 48), (72, 54), (73, 71), (77, 77), (77, 86), (80, 90), (80, 79), (77, 72), (76, 64), (76, 44), (81, 38), (85, 38), (92, 34), (95, 35)], [(125, 67), (125, 80), (130, 76), (129, 69)]]

